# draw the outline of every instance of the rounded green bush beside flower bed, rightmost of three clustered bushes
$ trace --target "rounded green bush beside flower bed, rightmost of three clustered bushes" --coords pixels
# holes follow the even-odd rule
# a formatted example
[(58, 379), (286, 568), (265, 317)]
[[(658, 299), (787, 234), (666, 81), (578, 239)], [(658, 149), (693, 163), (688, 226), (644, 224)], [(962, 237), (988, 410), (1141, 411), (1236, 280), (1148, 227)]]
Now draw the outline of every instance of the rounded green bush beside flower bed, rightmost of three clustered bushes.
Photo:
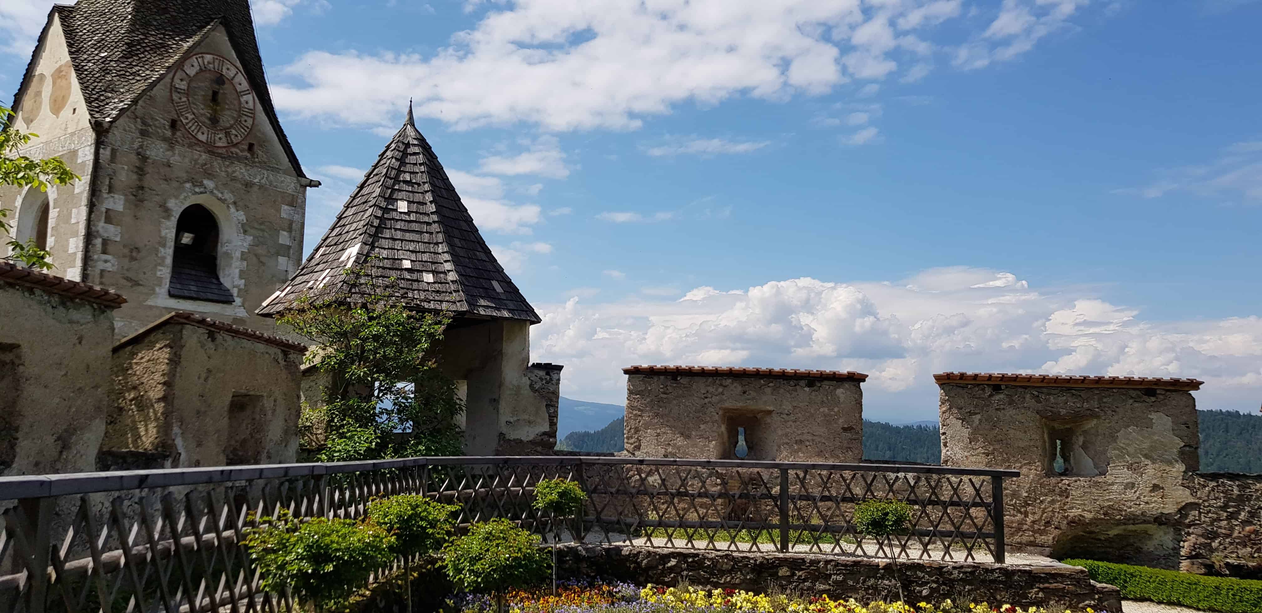
[(466, 592), (487, 593), (496, 612), (506, 610), (511, 589), (536, 585), (548, 576), (548, 555), (539, 537), (497, 517), (475, 523), (469, 532), (443, 547), (447, 576)]

